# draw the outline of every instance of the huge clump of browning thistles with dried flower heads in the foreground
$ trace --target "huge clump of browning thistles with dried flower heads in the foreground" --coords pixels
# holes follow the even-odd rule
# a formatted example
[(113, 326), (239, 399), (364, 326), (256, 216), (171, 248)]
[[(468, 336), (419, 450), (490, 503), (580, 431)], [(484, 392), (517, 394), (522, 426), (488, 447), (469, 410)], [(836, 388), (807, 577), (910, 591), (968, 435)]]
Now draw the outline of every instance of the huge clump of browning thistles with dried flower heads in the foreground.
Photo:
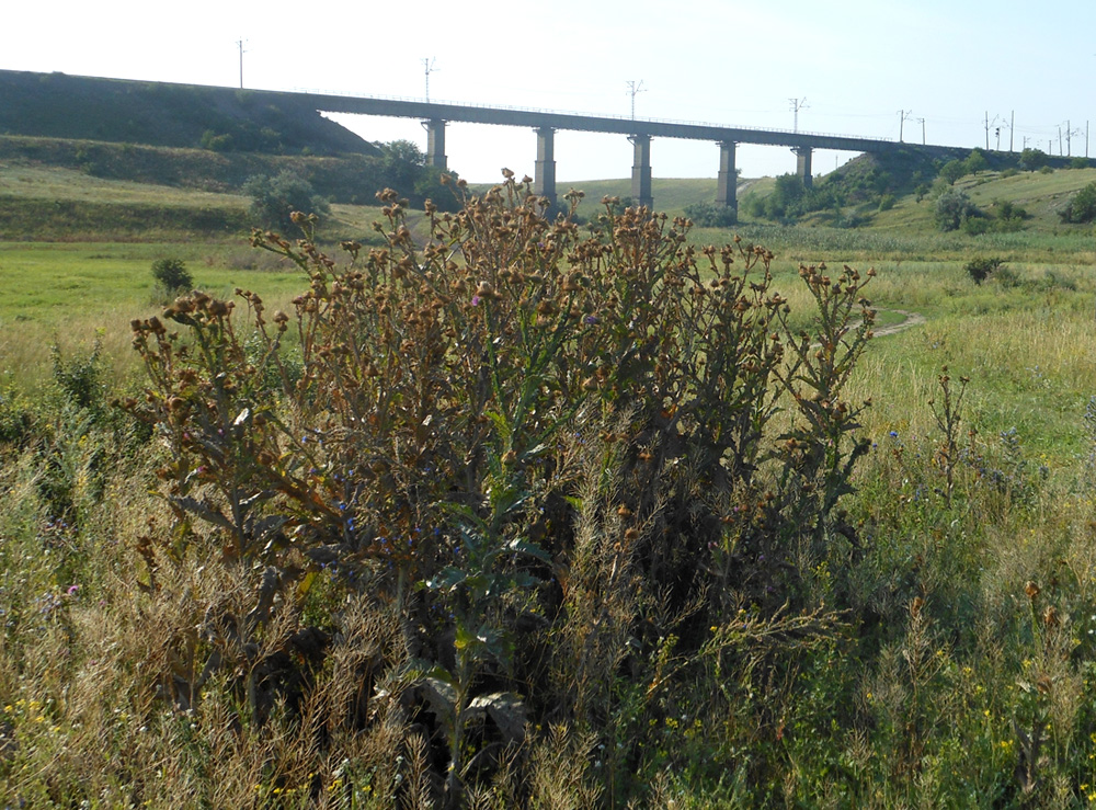
[[(254, 232), (310, 278), (292, 315), (237, 292), (255, 344), (204, 294), (165, 312), (179, 334), (132, 324), (149, 386), (125, 407), (169, 445), (174, 516), (141, 551), (148, 586), (209, 558), (253, 582), (206, 613), (202, 644), (181, 636), (162, 694), (190, 709), (210, 676), (260, 672), (262, 688), (239, 684), (249, 717), (315, 711), (324, 646), (309, 659), (264, 639), (330, 638), (342, 607), (307, 624), (317, 594), (365, 600), (398, 638), (349, 673), (367, 676), (358, 722), (383, 721), (387, 678), (439, 743), (445, 803), (551, 723), (601, 740), (591, 778), (638, 800), (624, 775), (671, 710), (726, 710), (727, 693), (692, 685), (699, 668), (760, 684), (784, 649), (836, 632), (815, 605), (860, 547), (837, 506), (869, 448), (848, 387), (874, 272), (801, 266), (803, 328), (772, 253), (696, 249), (684, 219), (608, 202), (583, 237), (509, 179), (456, 216), (430, 207), (419, 246), (398, 195), (381, 202), (386, 247), (344, 243), (342, 265)], [(739, 654), (751, 639), (764, 658)]]

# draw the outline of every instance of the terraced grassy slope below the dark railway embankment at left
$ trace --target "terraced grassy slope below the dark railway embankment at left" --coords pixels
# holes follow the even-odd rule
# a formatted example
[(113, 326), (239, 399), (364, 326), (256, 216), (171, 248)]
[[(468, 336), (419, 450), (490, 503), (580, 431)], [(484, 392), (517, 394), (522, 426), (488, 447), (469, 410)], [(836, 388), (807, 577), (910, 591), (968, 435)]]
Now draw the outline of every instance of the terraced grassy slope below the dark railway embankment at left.
[(240, 238), (254, 225), (244, 181), (286, 170), (333, 203), (330, 239), (368, 238), (375, 194), (395, 184), (381, 159), (362, 155), (218, 153), (0, 136), (0, 239)]

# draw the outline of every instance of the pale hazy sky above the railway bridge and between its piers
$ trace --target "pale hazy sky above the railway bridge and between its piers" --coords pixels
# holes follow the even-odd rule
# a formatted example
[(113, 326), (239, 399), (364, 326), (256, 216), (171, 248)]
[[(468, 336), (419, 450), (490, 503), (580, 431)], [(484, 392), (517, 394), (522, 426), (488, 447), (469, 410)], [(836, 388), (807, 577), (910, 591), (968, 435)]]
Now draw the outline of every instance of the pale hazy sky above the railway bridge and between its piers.
[[(429, 80), (432, 101), (621, 116), (635, 102), (638, 118), (1096, 157), (1094, 0), (39, 0), (3, 20), (9, 70), (239, 87), (242, 41), (243, 85), (262, 90), (423, 99)], [(425, 149), (418, 121), (336, 119)], [(536, 136), (449, 124), (446, 153), (472, 182), (533, 174)], [(737, 157), (747, 178), (796, 168), (781, 147)], [(813, 170), (852, 157), (815, 151)], [(651, 147), (655, 178), (713, 178), (718, 158)], [(560, 184), (631, 163), (623, 136), (556, 135)]]

